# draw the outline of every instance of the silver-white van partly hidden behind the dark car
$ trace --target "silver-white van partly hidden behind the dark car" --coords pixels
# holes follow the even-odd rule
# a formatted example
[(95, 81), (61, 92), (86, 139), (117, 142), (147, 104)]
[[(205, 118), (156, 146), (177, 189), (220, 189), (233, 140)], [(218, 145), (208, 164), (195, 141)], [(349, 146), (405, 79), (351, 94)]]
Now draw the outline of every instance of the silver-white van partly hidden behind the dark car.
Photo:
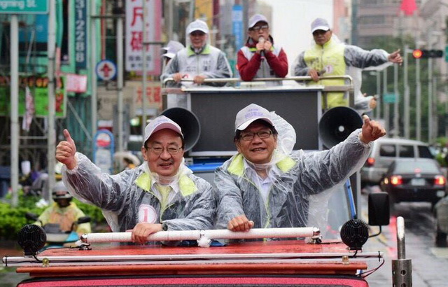
[(363, 184), (378, 184), (396, 158), (434, 158), (428, 144), (411, 139), (381, 138), (373, 142), (372, 151), (361, 168)]

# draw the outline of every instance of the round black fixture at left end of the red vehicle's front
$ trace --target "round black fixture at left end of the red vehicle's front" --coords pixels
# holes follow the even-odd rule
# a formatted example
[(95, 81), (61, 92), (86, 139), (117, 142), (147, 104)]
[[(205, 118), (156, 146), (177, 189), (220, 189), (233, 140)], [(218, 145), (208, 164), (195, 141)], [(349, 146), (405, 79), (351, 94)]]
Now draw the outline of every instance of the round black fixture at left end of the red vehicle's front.
[(25, 255), (35, 255), (37, 251), (45, 246), (46, 241), (47, 235), (39, 225), (23, 225), (18, 232), (18, 244), (22, 247)]

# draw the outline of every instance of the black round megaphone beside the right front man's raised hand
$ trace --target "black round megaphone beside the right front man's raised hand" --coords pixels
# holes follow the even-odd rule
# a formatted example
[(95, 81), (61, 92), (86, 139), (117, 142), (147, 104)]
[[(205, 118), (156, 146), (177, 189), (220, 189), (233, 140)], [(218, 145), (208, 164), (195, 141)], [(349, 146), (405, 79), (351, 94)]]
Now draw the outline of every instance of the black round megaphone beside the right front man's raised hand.
[(322, 115), (318, 130), (325, 148), (332, 148), (362, 126), (363, 118), (354, 109), (337, 106)]

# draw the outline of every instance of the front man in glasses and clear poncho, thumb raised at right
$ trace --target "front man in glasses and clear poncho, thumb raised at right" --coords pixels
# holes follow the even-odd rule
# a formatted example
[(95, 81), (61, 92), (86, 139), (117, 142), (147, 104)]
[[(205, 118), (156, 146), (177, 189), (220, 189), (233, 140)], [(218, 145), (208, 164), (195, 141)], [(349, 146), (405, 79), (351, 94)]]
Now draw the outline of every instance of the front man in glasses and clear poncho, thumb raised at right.
[[(386, 134), (367, 116), (358, 129), (330, 150), (304, 153), (285, 148), (286, 133), (294, 133), (286, 120), (257, 104), (237, 113), (235, 144), (238, 153), (216, 169), (216, 228), (248, 231), (251, 228), (307, 226), (313, 195), (329, 195), (363, 166), (371, 141)], [(311, 212), (312, 211), (312, 212)], [(326, 214), (325, 214), (326, 215)]]

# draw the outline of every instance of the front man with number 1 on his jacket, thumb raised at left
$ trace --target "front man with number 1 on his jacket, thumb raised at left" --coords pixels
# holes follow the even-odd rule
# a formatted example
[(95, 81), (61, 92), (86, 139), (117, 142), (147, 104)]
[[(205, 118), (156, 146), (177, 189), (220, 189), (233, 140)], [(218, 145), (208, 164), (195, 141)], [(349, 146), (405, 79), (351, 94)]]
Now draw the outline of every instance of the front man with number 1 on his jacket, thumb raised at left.
[(165, 116), (151, 120), (141, 147), (145, 162), (116, 175), (77, 153), (68, 130), (64, 136), (56, 158), (65, 165), (66, 186), (79, 200), (100, 207), (113, 232), (132, 231), (132, 240), (144, 244), (148, 235), (162, 230), (212, 228), (212, 186), (184, 164), (183, 134), (174, 121)]

